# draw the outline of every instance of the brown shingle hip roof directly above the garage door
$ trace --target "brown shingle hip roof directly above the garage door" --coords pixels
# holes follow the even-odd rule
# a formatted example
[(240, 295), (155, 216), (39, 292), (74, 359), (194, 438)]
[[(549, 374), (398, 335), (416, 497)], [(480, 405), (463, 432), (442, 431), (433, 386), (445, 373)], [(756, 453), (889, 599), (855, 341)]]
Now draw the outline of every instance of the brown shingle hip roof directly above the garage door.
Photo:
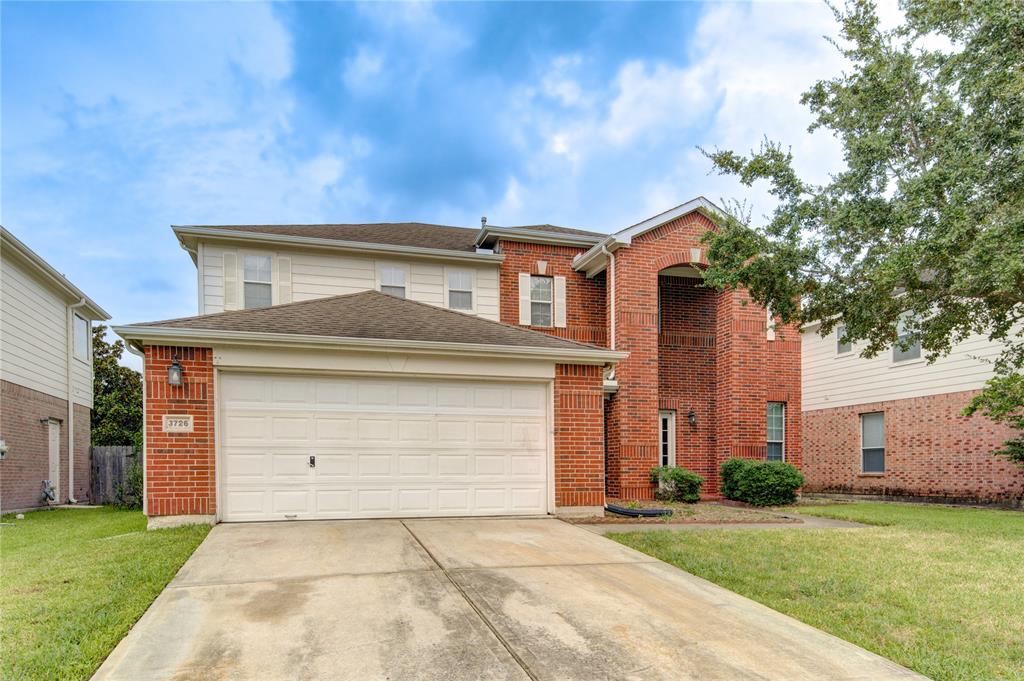
[(509, 345), (552, 350), (606, 349), (395, 298), (379, 291), (362, 291), (261, 309), (133, 324), (125, 329), (132, 327)]

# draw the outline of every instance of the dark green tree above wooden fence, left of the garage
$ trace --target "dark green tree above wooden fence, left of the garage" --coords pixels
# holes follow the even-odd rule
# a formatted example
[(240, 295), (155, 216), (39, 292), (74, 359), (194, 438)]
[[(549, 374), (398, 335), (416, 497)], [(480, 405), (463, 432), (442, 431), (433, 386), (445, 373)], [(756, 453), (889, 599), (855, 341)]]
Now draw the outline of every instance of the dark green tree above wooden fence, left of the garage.
[(122, 340), (108, 343), (106, 327), (92, 330), (92, 444), (131, 444), (142, 449), (142, 377), (119, 364)]

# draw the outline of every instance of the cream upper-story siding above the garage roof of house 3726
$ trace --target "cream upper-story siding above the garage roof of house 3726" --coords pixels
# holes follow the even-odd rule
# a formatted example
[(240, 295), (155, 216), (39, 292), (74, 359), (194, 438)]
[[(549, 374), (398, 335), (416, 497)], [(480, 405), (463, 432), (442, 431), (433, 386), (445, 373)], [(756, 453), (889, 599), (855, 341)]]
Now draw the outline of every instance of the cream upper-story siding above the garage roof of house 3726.
[[(224, 311), (224, 254), (236, 255), (239, 269), (238, 296), (242, 306), (242, 274), (244, 255), (262, 254), (273, 257), (273, 302), (280, 300), (281, 267), (280, 259), (289, 258), (292, 271), (292, 301), (313, 300), (327, 296), (358, 293), (379, 289), (381, 265), (396, 264), (407, 268), (406, 297), (410, 300), (447, 307), (447, 270), (459, 269), (473, 272), (474, 313), (488, 318), (499, 318), (498, 263), (478, 265), (455, 263), (420, 258), (403, 259), (401, 256), (361, 256), (352, 254), (316, 253), (301, 250), (279, 250), (233, 248), (213, 244), (203, 244), (200, 249), (200, 313), (211, 314)], [(286, 268), (287, 269), (287, 268)]]

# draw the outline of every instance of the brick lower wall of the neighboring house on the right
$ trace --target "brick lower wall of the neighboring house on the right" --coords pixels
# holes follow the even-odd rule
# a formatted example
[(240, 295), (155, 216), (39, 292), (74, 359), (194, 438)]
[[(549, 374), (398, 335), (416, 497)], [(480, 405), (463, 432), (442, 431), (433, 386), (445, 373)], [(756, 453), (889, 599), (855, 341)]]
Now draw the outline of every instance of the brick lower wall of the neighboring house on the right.
[[(804, 413), (808, 492), (929, 497), (959, 502), (1024, 500), (1024, 468), (992, 450), (1013, 430), (959, 412), (976, 391)], [(886, 472), (860, 472), (860, 415), (885, 413)]]

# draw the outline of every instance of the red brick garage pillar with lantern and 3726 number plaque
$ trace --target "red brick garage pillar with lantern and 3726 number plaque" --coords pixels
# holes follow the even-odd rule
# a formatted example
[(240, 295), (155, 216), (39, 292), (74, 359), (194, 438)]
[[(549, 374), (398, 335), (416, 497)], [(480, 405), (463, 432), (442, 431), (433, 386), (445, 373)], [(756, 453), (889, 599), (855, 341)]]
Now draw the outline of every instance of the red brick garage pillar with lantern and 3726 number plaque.
[[(174, 356), (182, 385), (167, 385)], [(194, 431), (165, 433), (164, 415), (191, 415)], [(216, 513), (213, 350), (203, 347), (145, 348), (146, 514)]]

